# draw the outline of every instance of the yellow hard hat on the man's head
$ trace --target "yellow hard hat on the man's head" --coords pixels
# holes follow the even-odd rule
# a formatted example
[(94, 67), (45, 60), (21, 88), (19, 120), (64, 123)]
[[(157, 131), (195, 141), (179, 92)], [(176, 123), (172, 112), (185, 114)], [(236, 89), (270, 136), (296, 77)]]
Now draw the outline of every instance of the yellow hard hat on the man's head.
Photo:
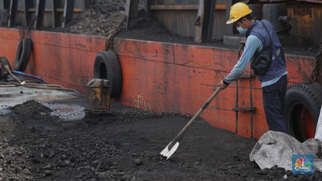
[(230, 8), (230, 17), (229, 20), (226, 22), (226, 24), (233, 23), (240, 19), (241, 17), (246, 16), (247, 14), (250, 14), (252, 10), (249, 8), (248, 5), (246, 5), (243, 2), (237, 2)]

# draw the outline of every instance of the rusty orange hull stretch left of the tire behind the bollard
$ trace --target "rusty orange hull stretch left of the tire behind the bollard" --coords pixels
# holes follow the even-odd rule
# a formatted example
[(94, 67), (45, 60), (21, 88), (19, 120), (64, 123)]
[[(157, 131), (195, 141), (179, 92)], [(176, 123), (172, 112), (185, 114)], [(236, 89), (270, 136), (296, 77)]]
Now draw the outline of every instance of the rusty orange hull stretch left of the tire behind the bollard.
[[(11, 66), (21, 36), (20, 30), (0, 28), (0, 56), (6, 56)], [(86, 93), (87, 81), (94, 76), (95, 56), (104, 49), (105, 39), (40, 31), (31, 32), (31, 38), (33, 51), (25, 72)]]

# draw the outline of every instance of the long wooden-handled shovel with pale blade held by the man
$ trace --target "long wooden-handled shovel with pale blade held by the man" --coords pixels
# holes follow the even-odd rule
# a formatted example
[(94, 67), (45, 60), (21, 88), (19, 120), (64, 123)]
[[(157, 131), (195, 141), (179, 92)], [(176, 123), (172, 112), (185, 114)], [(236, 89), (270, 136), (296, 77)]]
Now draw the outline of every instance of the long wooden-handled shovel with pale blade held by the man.
[(215, 96), (220, 90), (221, 87), (219, 86), (217, 90), (204, 103), (204, 105), (199, 109), (199, 111), (191, 118), (187, 125), (180, 131), (180, 133), (177, 136), (175, 136), (175, 138), (161, 151), (160, 154), (166, 157), (166, 160), (168, 160), (170, 156), (177, 150), (179, 146), (178, 141), (180, 137), (188, 130), (190, 125), (197, 119), (197, 117), (206, 109), (206, 107), (211, 103), (211, 101), (215, 98)]

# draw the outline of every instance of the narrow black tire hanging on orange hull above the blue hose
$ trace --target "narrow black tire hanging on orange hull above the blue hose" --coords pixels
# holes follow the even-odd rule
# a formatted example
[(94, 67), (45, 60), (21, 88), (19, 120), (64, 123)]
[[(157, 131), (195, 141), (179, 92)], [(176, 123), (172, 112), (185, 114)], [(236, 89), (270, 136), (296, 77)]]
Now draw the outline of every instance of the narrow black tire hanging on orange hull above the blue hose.
[(23, 38), (17, 47), (16, 58), (15, 58), (16, 71), (23, 72), (26, 70), (26, 67), (29, 63), (31, 49), (32, 49), (31, 39)]

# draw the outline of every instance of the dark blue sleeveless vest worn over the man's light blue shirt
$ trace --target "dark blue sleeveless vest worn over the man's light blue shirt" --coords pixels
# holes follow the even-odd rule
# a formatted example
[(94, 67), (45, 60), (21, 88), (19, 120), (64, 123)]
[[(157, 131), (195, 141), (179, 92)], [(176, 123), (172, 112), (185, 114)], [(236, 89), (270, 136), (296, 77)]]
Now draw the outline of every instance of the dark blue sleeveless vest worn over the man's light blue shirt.
[[(266, 82), (284, 74), (286, 71), (286, 63), (282, 45), (277, 38), (273, 25), (267, 20), (262, 20), (261, 22), (266, 25), (273, 43), (273, 57), (268, 71), (264, 76), (257, 76), (257, 78), (261, 82)], [(258, 37), (262, 41), (264, 49), (265, 47), (269, 46), (269, 36), (261, 22), (255, 21), (251, 25), (251, 27), (246, 32), (246, 38), (250, 35)]]

